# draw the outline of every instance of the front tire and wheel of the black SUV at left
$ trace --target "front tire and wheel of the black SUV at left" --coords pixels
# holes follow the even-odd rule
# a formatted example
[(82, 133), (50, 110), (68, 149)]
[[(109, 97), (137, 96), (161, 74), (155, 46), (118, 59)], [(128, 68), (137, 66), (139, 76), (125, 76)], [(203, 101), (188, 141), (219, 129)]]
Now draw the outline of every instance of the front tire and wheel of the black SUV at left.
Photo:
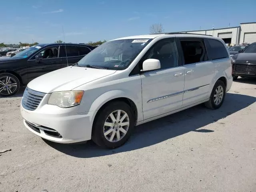
[[(6, 86), (6, 82), (8, 85)], [(0, 96), (12, 96), (20, 89), (19, 79), (10, 73), (0, 74)]]

